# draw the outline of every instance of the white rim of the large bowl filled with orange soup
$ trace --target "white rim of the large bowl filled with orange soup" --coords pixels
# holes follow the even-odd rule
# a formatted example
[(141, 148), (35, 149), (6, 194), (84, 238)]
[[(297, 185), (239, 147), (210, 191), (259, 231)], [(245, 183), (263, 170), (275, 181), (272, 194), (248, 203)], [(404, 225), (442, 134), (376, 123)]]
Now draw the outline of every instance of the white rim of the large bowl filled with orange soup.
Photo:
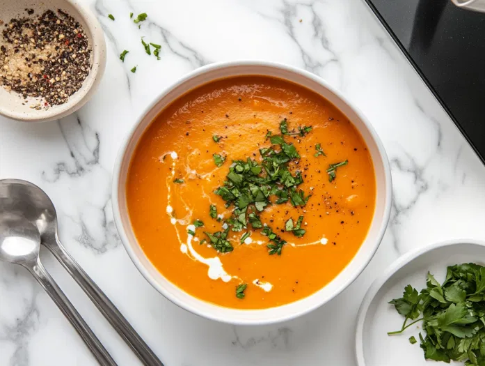
[[(212, 71), (215, 71), (215, 70), (220, 70), (220, 69), (223, 69), (223, 68), (232, 68), (232, 67), (237, 67), (237, 66), (249, 66), (249, 67), (260, 66), (260, 67), (267, 67), (267, 68), (276, 68), (276, 69), (279, 69), (279, 70), (287, 71), (289, 73), (294, 73), (296, 75), (306, 77), (307, 79), (310, 79), (310, 81), (315, 82), (317, 84), (320, 84), (321, 86), (324, 86), (324, 88), (328, 89), (337, 98), (342, 100), (342, 102), (344, 102), (344, 104), (348, 105), (351, 108), (351, 110), (358, 116), (360, 121), (363, 122), (363, 124), (365, 125), (365, 128), (367, 128), (367, 131), (369, 132), (372, 139), (374, 140), (374, 143), (376, 144), (376, 147), (379, 151), (379, 154), (381, 155), (382, 165), (383, 165), (383, 173), (384, 173), (384, 181), (385, 181), (385, 195), (384, 195), (384, 207), (383, 207), (383, 216), (382, 216), (382, 221), (381, 221), (381, 227), (379, 227), (379, 231), (376, 235), (375, 243), (374, 243), (374, 246), (372, 247), (372, 251), (369, 251), (369, 254), (365, 258), (365, 261), (363, 261), (360, 264), (360, 266), (358, 268), (356, 268), (355, 272), (353, 272), (352, 275), (349, 276), (349, 278), (347, 278), (346, 280), (344, 280), (344, 282), (342, 282), (338, 291), (335, 291), (335, 293), (333, 293), (331, 296), (328, 296), (328, 298), (326, 298), (323, 302), (322, 301), (315, 302), (315, 304), (312, 304), (312, 306), (305, 307), (303, 310), (301, 310), (299, 312), (287, 313), (284, 316), (280, 316), (278, 318), (273, 318), (273, 319), (247, 319), (247, 318), (244, 318), (244, 317), (240, 317), (240, 319), (227, 319), (226, 317), (219, 316), (217, 314), (217, 312), (206, 312), (204, 310), (200, 310), (200, 309), (198, 309), (198, 307), (186, 304), (186, 303), (180, 301), (175, 296), (173, 296), (173, 294), (170, 293), (170, 291), (164, 289), (164, 287), (162, 287), (161, 284), (159, 284), (157, 282), (157, 280), (155, 280), (150, 275), (150, 273), (148, 273), (147, 268), (145, 268), (145, 266), (143, 266), (141, 261), (136, 256), (136, 253), (132, 249), (131, 245), (129, 244), (129, 239), (127, 238), (127, 234), (125, 233), (125, 227), (122, 224), (120, 204), (119, 204), (119, 201), (118, 201), (118, 195), (120, 193), (119, 188), (120, 188), (121, 167), (122, 167), (123, 161), (125, 160), (125, 154), (126, 154), (126, 151), (127, 151), (127, 147), (129, 146), (129, 142), (131, 141), (132, 136), (136, 132), (138, 125), (140, 125), (142, 123), (142, 121), (145, 119), (145, 116), (154, 107), (156, 107), (157, 103), (162, 98), (164, 98), (164, 96), (166, 96), (170, 91), (177, 88), (178, 86), (181, 86), (185, 82), (188, 82), (190, 79), (193, 79), (194, 77), (198, 77), (199, 75), (203, 75), (205, 73), (209, 73), (209, 72), (212, 72)], [(254, 75), (257, 75), (257, 72), (255, 72)], [(288, 80), (288, 81), (293, 82), (292, 80)], [(294, 82), (294, 83), (296, 83), (296, 82)], [(296, 83), (296, 84), (298, 84), (298, 83)], [(196, 86), (196, 87), (198, 87), (198, 86)], [(196, 87), (194, 87), (194, 88), (196, 88)], [(303, 86), (303, 87), (310, 89), (306, 86)], [(189, 89), (189, 90), (193, 90), (194, 88)], [(188, 91), (186, 91), (185, 93), (187, 93), (187, 92)], [(285, 65), (283, 63), (276, 63), (276, 62), (271, 62), (271, 61), (256, 61), (256, 60), (221, 61), (221, 62), (216, 62), (216, 63), (210, 63), (209, 65), (202, 66), (201, 68), (197, 68), (196, 70), (192, 70), (190, 73), (182, 76), (180, 79), (177, 79), (176, 82), (174, 82), (173, 84), (170, 84), (168, 87), (166, 87), (166, 89), (161, 91), (161, 93), (159, 93), (157, 95), (157, 97), (154, 98), (154, 100), (152, 100), (152, 102), (150, 102), (150, 104), (148, 104), (143, 109), (141, 114), (139, 114), (138, 118), (136, 119), (136, 123), (134, 123), (132, 128), (129, 130), (129, 133), (126, 135), (125, 139), (123, 140), (123, 142), (120, 146), (120, 149), (118, 151), (118, 155), (116, 157), (116, 162), (115, 162), (115, 165), (114, 165), (114, 168), (113, 168), (113, 186), (112, 186), (112, 188), (113, 188), (113, 190), (112, 190), (111, 197), (112, 197), (112, 207), (113, 207), (113, 218), (114, 218), (116, 227), (118, 229), (118, 233), (120, 234), (121, 241), (122, 241), (122, 243), (125, 247), (125, 250), (127, 250), (127, 253), (129, 255), (130, 259), (132, 259), (136, 268), (138, 268), (138, 270), (143, 275), (143, 277), (145, 277), (145, 280), (147, 280), (152, 285), (152, 287), (154, 287), (154, 289), (157, 289), (157, 291), (159, 291), (159, 293), (161, 293), (164, 297), (168, 298), (168, 300), (170, 300), (175, 305), (182, 307), (182, 309), (187, 310), (187, 311), (189, 311), (193, 314), (197, 314), (200, 317), (204, 317), (206, 319), (220, 321), (222, 323), (230, 323), (230, 324), (233, 324), (233, 325), (266, 325), (266, 324), (272, 324), (272, 323), (280, 323), (282, 321), (288, 321), (288, 320), (294, 319), (296, 317), (301, 317), (304, 314), (308, 314), (308, 312), (311, 312), (312, 310), (317, 309), (321, 305), (324, 305), (325, 303), (328, 303), (328, 301), (335, 298), (335, 296), (337, 296), (339, 293), (344, 291), (344, 289), (349, 287), (349, 285), (354, 280), (356, 280), (356, 278), (363, 272), (365, 267), (367, 267), (367, 264), (369, 264), (369, 262), (374, 257), (374, 254), (375, 254), (376, 250), (379, 248), (379, 245), (380, 245), (382, 238), (385, 234), (385, 230), (388, 226), (388, 222), (389, 222), (389, 218), (390, 218), (391, 204), (392, 204), (392, 178), (391, 178), (391, 173), (390, 173), (390, 164), (389, 164), (389, 161), (388, 161), (388, 157), (387, 157), (387, 154), (385, 153), (385, 148), (384, 148), (384, 146), (381, 142), (381, 139), (379, 138), (376, 131), (374, 130), (374, 127), (371, 125), (371, 123), (369, 123), (367, 118), (363, 115), (363, 113), (360, 112), (360, 110), (358, 108), (356, 108), (351, 102), (349, 102), (349, 100), (347, 100), (347, 98), (342, 96), (342, 93), (340, 93), (340, 91), (337, 91), (335, 88), (333, 88), (333, 86), (331, 86), (327, 82), (325, 82), (324, 79), (321, 79), (321, 77), (319, 77), (315, 74), (312, 74), (312, 73), (310, 73), (306, 70), (300, 69), (300, 68), (296, 68), (294, 66)], [(182, 290), (182, 291), (184, 291), (184, 290)], [(193, 297), (193, 298), (196, 298), (195, 296), (192, 296), (189, 293), (188, 293), (188, 295)], [(312, 295), (310, 295), (310, 296), (312, 296)], [(308, 298), (310, 296), (307, 296), (306, 298)], [(198, 298), (196, 298), (196, 299), (198, 299)], [(304, 299), (305, 298), (303, 298), (301, 300), (304, 300)], [(198, 300), (201, 300), (201, 299), (198, 299)], [(204, 300), (202, 300), (202, 301), (204, 301)], [(216, 304), (212, 304), (212, 303), (209, 303), (209, 304), (213, 305), (214, 307), (221, 307), (221, 306), (216, 305)], [(288, 304), (285, 304), (285, 305), (288, 305)], [(285, 305), (282, 305), (282, 306), (285, 306)], [(223, 307), (223, 308), (225, 309), (225, 307)], [(269, 309), (274, 309), (274, 308), (277, 308), (277, 307), (271, 307)], [(230, 309), (232, 310), (232, 308), (230, 308)], [(234, 309), (234, 310), (237, 310), (237, 309)], [(237, 311), (240, 311), (241, 314), (244, 314), (244, 312), (257, 312), (257, 311), (262, 311), (262, 310), (267, 310), (267, 309), (237, 310)]]

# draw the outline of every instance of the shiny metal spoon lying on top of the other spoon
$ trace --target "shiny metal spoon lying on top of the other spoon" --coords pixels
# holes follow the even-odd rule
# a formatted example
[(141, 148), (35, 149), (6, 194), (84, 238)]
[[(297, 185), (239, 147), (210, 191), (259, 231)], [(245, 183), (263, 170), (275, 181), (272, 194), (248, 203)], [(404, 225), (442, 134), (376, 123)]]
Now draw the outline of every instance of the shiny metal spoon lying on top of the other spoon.
[[(3, 206), (0, 205), (1, 208)], [(40, 234), (31, 222), (21, 216), (0, 211), (0, 260), (23, 266), (49, 293), (54, 303), (86, 342), (102, 366), (116, 366), (108, 351), (97, 339), (79, 312), (40, 263)]]

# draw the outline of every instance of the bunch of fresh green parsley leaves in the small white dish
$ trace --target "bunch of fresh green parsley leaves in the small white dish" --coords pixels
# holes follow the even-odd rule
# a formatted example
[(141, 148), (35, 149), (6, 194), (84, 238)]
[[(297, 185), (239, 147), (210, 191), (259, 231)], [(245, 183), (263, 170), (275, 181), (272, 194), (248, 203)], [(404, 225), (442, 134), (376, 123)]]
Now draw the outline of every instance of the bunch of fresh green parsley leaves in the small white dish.
[[(422, 321), (424, 336), (420, 346), (428, 360), (465, 361), (465, 365), (485, 365), (485, 267), (456, 264), (447, 268), (440, 284), (427, 275), (427, 287), (419, 293), (411, 285), (403, 296), (390, 301), (405, 317), (400, 330)], [(415, 343), (414, 337), (409, 339)]]

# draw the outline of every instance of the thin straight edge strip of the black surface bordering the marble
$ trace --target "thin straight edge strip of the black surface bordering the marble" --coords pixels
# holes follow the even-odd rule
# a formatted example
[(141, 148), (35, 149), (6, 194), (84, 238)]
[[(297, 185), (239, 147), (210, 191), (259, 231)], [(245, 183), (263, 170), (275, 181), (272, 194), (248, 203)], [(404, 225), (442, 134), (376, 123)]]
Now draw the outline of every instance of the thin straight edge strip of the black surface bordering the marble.
[(470, 144), (470, 146), (472, 146), (473, 150), (478, 155), (478, 157), (480, 158), (480, 160), (482, 160), (482, 162), (485, 163), (484, 156), (478, 151), (477, 147), (472, 143), (472, 141), (470, 140), (470, 137), (468, 137), (468, 135), (466, 134), (465, 130), (463, 130), (463, 128), (461, 127), (461, 125), (458, 122), (458, 120), (454, 117), (454, 115), (452, 114), (452, 112), (450, 111), (450, 109), (448, 109), (447, 105), (445, 105), (445, 102), (443, 102), (443, 100), (440, 98), (439, 94), (436, 92), (436, 90), (434, 89), (434, 87), (431, 85), (431, 83), (429, 82), (429, 80), (427, 79), (427, 77), (424, 76), (424, 74), (422, 73), (422, 71), (420, 70), (420, 68), (418, 67), (418, 65), (414, 62), (414, 60), (412, 59), (411, 55), (408, 53), (408, 50), (406, 49), (406, 47), (404, 47), (404, 45), (401, 43), (401, 41), (399, 40), (399, 38), (397, 38), (396, 34), (394, 33), (394, 31), (392, 31), (392, 29), (390, 28), (389, 24), (387, 22), (385, 22), (383, 16), (381, 15), (381, 13), (379, 13), (379, 10), (376, 9), (376, 7), (371, 2), (371, 0), (365, 0), (365, 2), (369, 6), (369, 8), (371, 8), (371, 10), (374, 13), (374, 15), (376, 15), (376, 17), (379, 19), (379, 21), (381, 22), (381, 24), (384, 26), (385, 30), (388, 31), (388, 33), (390, 34), (390, 36), (392, 37), (392, 39), (395, 41), (395, 43), (397, 44), (397, 46), (399, 47), (399, 49), (401, 49), (401, 52), (404, 53), (404, 56), (406, 56), (406, 59), (408, 59), (409, 63), (411, 63), (411, 65), (413, 66), (413, 68), (416, 70), (416, 73), (418, 73), (418, 75), (420, 75), (422, 81), (424, 82), (424, 84), (426, 84), (426, 86), (431, 91), (431, 93), (433, 93), (433, 95), (436, 98), (436, 100), (438, 100), (438, 102), (440, 102), (441, 107), (443, 107), (443, 109), (445, 109), (445, 112), (448, 114), (448, 116), (450, 116), (450, 118), (452, 119), (452, 121), (454, 122), (454, 124), (456, 125), (456, 127), (461, 132), (461, 135), (463, 135), (463, 137), (465, 137), (465, 139), (468, 142), (468, 144)]

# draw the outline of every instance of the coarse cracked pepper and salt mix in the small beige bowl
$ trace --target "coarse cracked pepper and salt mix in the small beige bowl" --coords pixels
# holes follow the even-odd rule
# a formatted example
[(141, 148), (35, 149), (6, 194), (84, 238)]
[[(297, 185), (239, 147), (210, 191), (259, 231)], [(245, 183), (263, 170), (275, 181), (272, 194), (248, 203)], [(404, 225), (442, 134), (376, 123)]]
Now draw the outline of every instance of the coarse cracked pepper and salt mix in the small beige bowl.
[[(0, 21), (1, 26), (1, 21)], [(3, 24), (0, 84), (35, 109), (62, 105), (78, 91), (91, 68), (91, 47), (81, 24), (57, 10), (26, 15)]]

